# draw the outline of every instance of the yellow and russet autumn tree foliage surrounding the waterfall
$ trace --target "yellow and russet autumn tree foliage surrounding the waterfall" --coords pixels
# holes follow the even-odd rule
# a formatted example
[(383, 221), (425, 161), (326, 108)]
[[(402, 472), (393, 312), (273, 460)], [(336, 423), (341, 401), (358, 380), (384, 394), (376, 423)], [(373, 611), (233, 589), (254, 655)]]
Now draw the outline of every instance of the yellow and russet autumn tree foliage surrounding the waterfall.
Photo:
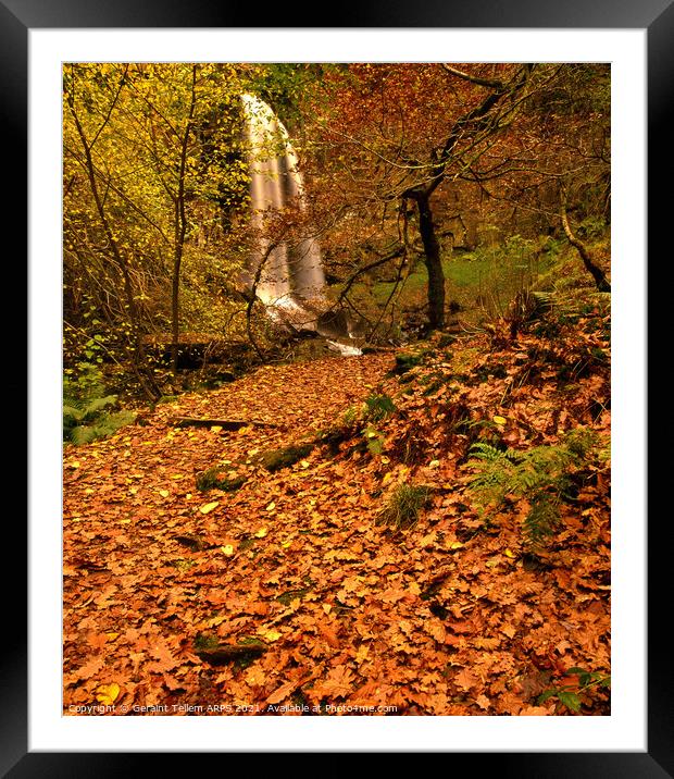
[(317, 236), (332, 305), (371, 337), (395, 295), (365, 312), (353, 290), (421, 262), (442, 327), (447, 262), (490, 230), (564, 235), (608, 288), (577, 232), (610, 219), (608, 66), (90, 63), (63, 86), (67, 354), (128, 362), (150, 396), (149, 338), (170, 334), (175, 372), (183, 333), (252, 333), (244, 92), (285, 122), (307, 182), (304, 222), (289, 208), (265, 230)]

